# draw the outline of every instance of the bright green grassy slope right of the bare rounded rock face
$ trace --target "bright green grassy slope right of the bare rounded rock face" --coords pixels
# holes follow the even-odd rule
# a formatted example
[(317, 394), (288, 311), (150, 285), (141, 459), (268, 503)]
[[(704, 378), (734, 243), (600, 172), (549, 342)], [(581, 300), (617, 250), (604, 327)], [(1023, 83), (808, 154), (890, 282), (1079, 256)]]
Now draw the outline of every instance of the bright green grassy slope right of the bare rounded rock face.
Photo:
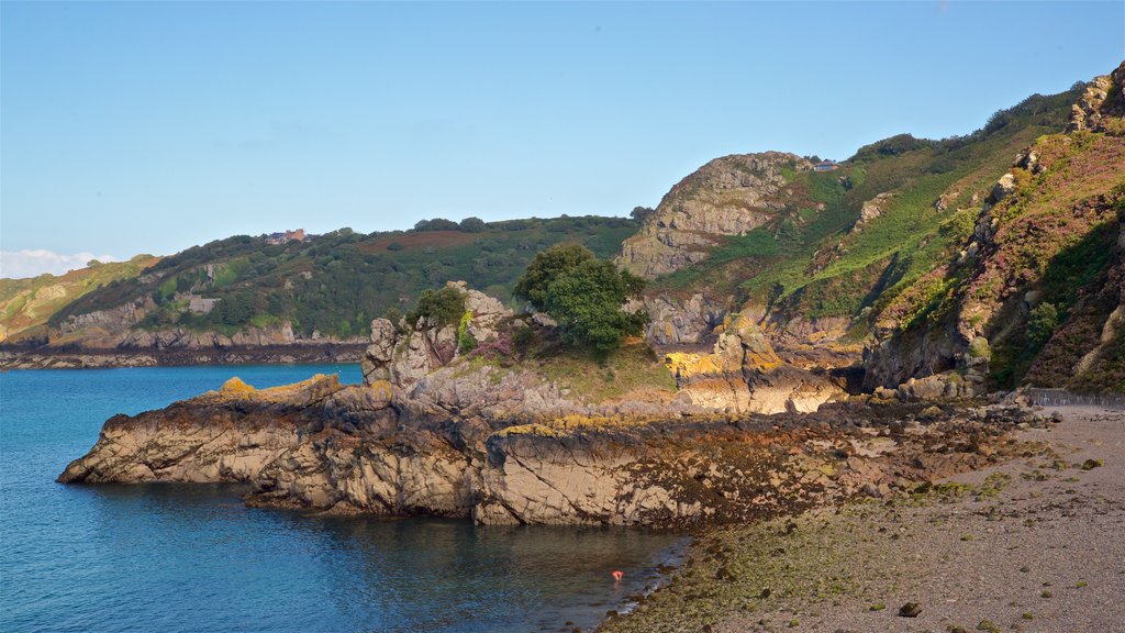
[[(961, 247), (979, 211), (973, 195), (982, 197), (1022, 148), (1062, 130), (1076, 96), (1032, 97), (970, 136), (892, 137), (836, 171), (790, 173), (783, 217), (729, 238), (709, 259), (652, 287), (735, 292), (793, 315), (878, 312)], [(886, 191), (894, 195), (881, 216), (852, 232), (863, 203)], [(934, 206), (939, 196), (945, 211)]]

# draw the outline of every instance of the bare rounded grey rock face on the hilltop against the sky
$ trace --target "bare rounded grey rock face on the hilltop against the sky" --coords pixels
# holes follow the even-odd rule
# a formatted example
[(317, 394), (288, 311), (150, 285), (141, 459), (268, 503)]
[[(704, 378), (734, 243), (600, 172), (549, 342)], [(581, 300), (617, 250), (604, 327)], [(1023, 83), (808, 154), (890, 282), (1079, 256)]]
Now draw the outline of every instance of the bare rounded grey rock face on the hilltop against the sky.
[(777, 216), (788, 191), (783, 169), (812, 163), (795, 154), (764, 152), (712, 160), (664, 196), (656, 213), (622, 244), (620, 262), (648, 279), (706, 258), (723, 235), (741, 235)]

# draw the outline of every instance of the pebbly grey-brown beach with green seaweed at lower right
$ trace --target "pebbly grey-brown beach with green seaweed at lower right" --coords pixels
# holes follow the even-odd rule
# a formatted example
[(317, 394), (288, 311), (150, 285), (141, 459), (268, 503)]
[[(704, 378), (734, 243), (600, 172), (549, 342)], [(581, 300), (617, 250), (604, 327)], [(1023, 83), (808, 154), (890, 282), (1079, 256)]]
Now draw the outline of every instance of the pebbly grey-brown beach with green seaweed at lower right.
[(1119, 630), (1105, 607), (1125, 595), (1125, 411), (1035, 409), (1062, 422), (1016, 431), (1023, 456), (704, 531), (664, 588), (598, 631)]

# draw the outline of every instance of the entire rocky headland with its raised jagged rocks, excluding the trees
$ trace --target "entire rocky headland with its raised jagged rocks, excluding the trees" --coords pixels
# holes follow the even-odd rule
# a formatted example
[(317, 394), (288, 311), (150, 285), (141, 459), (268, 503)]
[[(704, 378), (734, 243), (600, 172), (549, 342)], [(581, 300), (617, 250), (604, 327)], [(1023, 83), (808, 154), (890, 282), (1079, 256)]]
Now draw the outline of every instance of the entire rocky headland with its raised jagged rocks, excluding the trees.
[[(511, 350), (523, 329), (549, 345), (544, 315), (450, 287), (471, 319), (378, 320), (362, 385), (316, 376), (255, 390), (232, 378), (110, 419), (60, 481), (245, 482), (260, 506), (678, 528), (881, 497), (971, 470), (1010, 454), (1005, 433), (1020, 419), (1018, 409), (843, 402), (737, 315), (709, 354), (658, 359), (638, 341), (618, 362), (639, 355), (630, 372), (650, 378), (613, 391), (619, 378), (602, 375), (576, 391), (574, 376), (552, 377), (533, 350)], [(469, 353), (458, 346), (466, 331), (477, 344)], [(606, 371), (574, 363), (578, 375)]]

